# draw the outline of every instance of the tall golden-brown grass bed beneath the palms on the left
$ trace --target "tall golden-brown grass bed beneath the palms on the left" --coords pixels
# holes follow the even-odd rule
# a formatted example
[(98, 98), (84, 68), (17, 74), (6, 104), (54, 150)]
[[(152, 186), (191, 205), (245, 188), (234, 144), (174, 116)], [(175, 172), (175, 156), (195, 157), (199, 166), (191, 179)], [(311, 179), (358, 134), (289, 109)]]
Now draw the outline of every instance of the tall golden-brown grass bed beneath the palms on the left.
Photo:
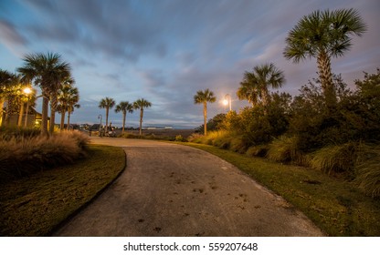
[(85, 156), (89, 138), (79, 132), (51, 137), (27, 136), (0, 139), (0, 182), (17, 179)]

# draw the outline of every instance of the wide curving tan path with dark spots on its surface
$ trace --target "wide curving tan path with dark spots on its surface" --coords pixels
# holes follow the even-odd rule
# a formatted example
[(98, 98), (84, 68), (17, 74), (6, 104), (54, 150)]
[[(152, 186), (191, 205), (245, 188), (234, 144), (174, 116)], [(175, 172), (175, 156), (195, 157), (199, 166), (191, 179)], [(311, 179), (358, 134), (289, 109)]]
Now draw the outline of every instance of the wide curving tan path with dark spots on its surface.
[(284, 199), (205, 151), (91, 139), (123, 147), (127, 168), (57, 236), (322, 236)]

